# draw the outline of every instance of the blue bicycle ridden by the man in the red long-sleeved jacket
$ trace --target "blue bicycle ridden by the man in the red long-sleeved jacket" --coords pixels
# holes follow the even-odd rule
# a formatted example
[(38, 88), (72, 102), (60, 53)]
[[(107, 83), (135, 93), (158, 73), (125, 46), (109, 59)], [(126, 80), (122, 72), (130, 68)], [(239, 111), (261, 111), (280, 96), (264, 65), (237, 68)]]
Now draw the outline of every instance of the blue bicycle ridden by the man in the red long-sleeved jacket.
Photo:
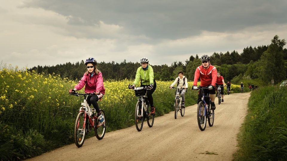
[(201, 131), (206, 128), (206, 120), (208, 120), (208, 125), (211, 127), (214, 123), (214, 110), (210, 110), (211, 100), (209, 94), (205, 95), (203, 89), (208, 89), (208, 87), (198, 87), (197, 90), (201, 90), (201, 101), (197, 106), (197, 123)]

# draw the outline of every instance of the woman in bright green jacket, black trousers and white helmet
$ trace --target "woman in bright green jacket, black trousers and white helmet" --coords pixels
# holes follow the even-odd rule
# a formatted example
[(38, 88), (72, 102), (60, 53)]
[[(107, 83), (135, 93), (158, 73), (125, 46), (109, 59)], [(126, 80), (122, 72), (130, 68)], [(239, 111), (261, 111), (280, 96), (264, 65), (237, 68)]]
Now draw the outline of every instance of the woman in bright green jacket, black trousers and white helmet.
[(151, 114), (155, 114), (155, 106), (153, 105), (152, 93), (155, 92), (156, 82), (153, 76), (152, 66), (149, 65), (149, 61), (147, 58), (141, 58), (141, 66), (137, 70), (137, 74), (135, 75), (135, 81), (132, 85), (129, 86), (130, 89), (135, 88), (136, 84), (138, 84), (141, 79), (141, 87), (149, 86), (151, 90), (147, 90), (146, 95), (149, 100), (150, 107), (152, 108)]

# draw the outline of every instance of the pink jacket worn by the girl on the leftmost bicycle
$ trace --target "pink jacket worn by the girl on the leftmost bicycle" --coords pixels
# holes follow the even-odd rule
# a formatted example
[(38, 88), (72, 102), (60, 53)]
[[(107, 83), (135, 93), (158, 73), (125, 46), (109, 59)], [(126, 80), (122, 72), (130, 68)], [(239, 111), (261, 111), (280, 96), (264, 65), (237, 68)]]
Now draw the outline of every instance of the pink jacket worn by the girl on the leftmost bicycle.
[[(91, 79), (90, 79), (91, 78)], [(91, 73), (84, 74), (83, 78), (79, 81), (79, 83), (74, 87), (77, 90), (82, 89), (85, 85), (85, 93), (94, 93), (99, 90), (103, 95), (105, 94), (104, 80), (102, 73), (94, 74), (91, 77)]]

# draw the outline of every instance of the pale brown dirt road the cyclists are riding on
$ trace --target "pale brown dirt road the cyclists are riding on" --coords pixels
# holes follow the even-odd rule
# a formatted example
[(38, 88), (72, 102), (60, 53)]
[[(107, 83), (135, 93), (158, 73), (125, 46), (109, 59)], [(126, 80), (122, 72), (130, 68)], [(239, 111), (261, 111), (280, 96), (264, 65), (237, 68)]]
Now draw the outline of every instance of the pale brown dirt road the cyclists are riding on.
[(247, 113), (250, 93), (225, 95), (215, 101), (213, 127), (200, 131), (196, 120), (197, 105), (188, 106), (184, 117), (174, 112), (156, 117), (152, 128), (144, 123), (106, 133), (102, 140), (87, 139), (81, 148), (75, 144), (55, 149), (30, 160), (232, 160), (236, 134)]

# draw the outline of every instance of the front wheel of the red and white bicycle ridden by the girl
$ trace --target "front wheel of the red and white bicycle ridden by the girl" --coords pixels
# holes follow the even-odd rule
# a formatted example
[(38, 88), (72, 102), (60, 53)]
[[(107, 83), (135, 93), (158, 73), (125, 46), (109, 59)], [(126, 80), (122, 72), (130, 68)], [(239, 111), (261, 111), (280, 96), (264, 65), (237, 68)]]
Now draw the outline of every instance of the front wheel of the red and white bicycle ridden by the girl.
[(76, 118), (74, 128), (74, 140), (78, 148), (80, 148), (85, 141), (86, 124), (85, 124), (85, 112), (80, 112)]

